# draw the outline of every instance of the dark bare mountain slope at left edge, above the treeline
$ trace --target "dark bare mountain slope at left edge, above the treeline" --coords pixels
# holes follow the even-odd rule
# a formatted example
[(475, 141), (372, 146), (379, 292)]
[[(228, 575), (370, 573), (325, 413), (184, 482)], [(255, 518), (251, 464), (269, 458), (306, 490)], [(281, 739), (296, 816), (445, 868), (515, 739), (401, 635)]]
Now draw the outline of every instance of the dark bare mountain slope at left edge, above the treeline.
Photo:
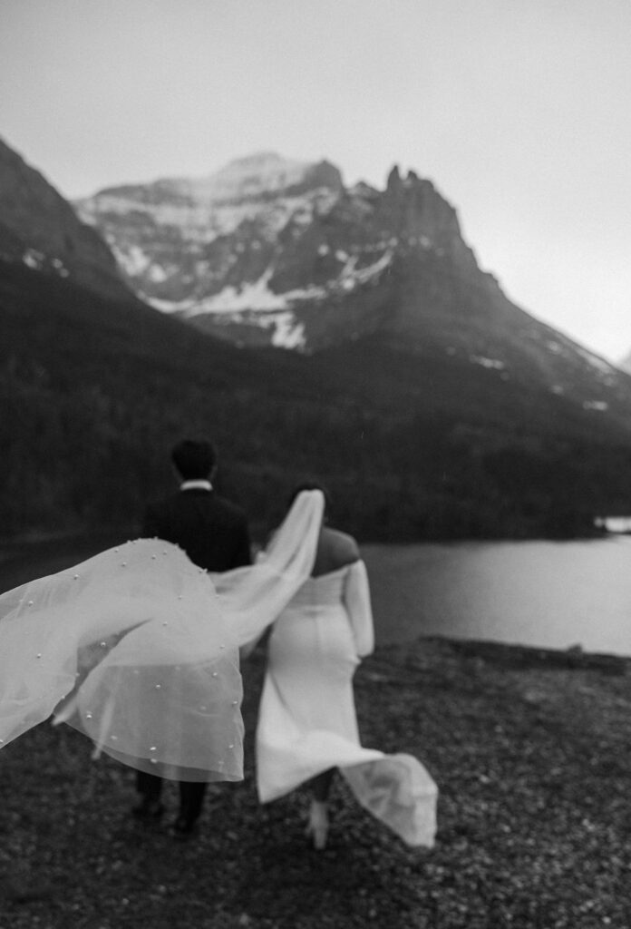
[(109, 248), (70, 203), (0, 139), (0, 257), (130, 298)]

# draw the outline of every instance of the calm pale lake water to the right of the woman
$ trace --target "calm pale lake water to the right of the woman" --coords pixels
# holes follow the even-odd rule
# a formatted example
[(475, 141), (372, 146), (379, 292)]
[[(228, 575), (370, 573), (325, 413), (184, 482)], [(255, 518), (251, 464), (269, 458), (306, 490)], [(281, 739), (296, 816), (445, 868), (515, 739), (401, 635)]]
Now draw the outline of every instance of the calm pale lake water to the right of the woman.
[(417, 635), (631, 655), (631, 537), (367, 545), (378, 641)]

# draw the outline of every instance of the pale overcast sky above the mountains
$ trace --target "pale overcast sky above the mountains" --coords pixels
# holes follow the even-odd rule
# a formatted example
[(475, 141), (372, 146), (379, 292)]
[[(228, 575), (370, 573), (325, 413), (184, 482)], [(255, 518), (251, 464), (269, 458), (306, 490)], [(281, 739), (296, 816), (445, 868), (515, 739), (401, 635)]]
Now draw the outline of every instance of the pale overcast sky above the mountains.
[(257, 151), (429, 177), (505, 293), (631, 349), (631, 0), (0, 0), (0, 136), (65, 196)]

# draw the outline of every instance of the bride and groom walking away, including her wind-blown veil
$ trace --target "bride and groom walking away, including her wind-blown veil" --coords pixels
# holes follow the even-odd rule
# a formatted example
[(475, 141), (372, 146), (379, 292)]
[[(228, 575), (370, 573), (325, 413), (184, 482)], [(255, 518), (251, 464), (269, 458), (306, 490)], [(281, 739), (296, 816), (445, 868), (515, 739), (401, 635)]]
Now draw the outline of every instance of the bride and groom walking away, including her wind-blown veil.
[[(208, 443), (174, 450), (182, 485), (140, 539), (0, 597), (0, 747), (51, 713), (138, 772), (141, 817), (180, 783), (175, 831), (206, 784), (243, 777), (239, 649), (272, 626), (256, 733), (263, 803), (311, 782), (309, 830), (327, 840), (338, 768), (361, 805), (407, 844), (431, 846), (436, 787), (409, 755), (361, 747), (352, 677), (372, 648), (354, 541), (324, 525), (324, 496), (297, 493), (255, 564), (245, 518), (212, 491)], [(181, 547), (180, 547), (181, 546)], [(211, 570), (212, 574), (208, 571)]]

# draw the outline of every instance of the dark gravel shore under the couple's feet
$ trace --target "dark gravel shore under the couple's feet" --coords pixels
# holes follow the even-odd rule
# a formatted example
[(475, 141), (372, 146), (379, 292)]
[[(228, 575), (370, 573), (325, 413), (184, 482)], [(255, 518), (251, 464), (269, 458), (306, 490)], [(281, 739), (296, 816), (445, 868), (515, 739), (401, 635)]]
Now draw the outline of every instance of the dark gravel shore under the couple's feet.
[(260, 808), (244, 667), (246, 779), (209, 789), (199, 833), (136, 823), (134, 773), (38, 726), (0, 752), (0, 929), (596, 929), (631, 926), (631, 661), (491, 643), (380, 647), (355, 677), (363, 743), (415, 754), (440, 789), (408, 849), (337, 779), (326, 851), (308, 795)]

